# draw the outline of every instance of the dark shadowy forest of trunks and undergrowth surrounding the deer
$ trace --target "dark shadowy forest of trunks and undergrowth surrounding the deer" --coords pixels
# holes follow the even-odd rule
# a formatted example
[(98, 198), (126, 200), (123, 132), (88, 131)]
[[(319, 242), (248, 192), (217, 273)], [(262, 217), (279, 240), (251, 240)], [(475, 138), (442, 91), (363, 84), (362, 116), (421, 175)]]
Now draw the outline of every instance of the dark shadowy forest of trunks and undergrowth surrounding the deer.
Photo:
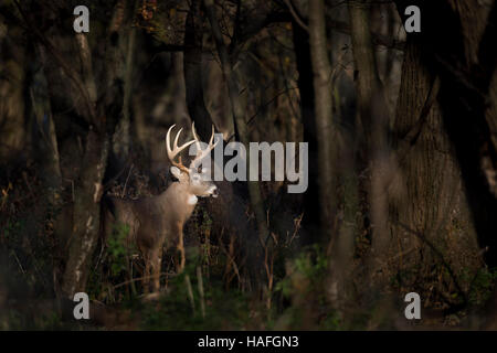
[[(0, 329), (497, 329), (496, 40), (493, 0), (2, 0)], [(101, 199), (166, 190), (191, 122), (308, 142), (309, 186), (218, 182), (146, 300)]]

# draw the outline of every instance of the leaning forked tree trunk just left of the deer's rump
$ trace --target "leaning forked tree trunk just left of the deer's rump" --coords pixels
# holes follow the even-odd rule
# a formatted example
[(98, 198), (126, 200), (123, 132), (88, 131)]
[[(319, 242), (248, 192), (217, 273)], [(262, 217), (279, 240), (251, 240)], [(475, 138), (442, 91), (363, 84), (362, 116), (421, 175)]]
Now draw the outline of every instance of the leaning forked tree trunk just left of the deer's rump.
[[(63, 276), (62, 290), (64, 295), (72, 297), (77, 291), (84, 291), (88, 278), (89, 264), (93, 252), (98, 242), (101, 197), (103, 194), (102, 181), (107, 168), (109, 153), (109, 137), (115, 135), (115, 128), (121, 119), (123, 108), (123, 78), (128, 78), (127, 90), (129, 95), (130, 72), (119, 69), (120, 62), (118, 51), (119, 36), (124, 33), (124, 9), (126, 1), (118, 1), (114, 8), (114, 15), (107, 33), (110, 47), (107, 47), (105, 56), (105, 83), (102, 97), (97, 100), (97, 85), (93, 73), (92, 51), (86, 34), (76, 34), (77, 49), (82, 57), (83, 82), (89, 107), (85, 117), (89, 121), (86, 135), (85, 152), (82, 169), (74, 191), (73, 233), (68, 244), (68, 257)], [(133, 14), (130, 15), (133, 18)], [(114, 36), (115, 40), (110, 41)], [(133, 39), (129, 45), (133, 49)], [(128, 52), (128, 64), (133, 62)], [(130, 68), (130, 67), (128, 67)], [(126, 93), (125, 93), (126, 94)], [(129, 98), (129, 96), (127, 97)], [(115, 140), (115, 139), (114, 139)]]

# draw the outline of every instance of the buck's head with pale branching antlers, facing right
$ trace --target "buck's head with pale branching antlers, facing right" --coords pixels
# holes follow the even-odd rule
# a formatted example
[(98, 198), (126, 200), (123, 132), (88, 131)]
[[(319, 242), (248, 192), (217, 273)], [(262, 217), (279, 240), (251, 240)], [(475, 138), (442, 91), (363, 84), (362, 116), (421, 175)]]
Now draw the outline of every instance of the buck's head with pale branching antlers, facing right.
[[(209, 196), (216, 197), (218, 188), (211, 180), (210, 171), (207, 168), (200, 168), (202, 160), (209, 156), (209, 153), (219, 142), (218, 140), (215, 143), (213, 143), (214, 126), (212, 126), (211, 139), (209, 140), (209, 145), (205, 149), (202, 150), (201, 148), (201, 143), (199, 137), (197, 136), (195, 126), (193, 122), (191, 126), (193, 132), (193, 140), (184, 142), (183, 145), (178, 147), (179, 136), (182, 131), (181, 128), (176, 135), (171, 150), (170, 135), (175, 126), (176, 125), (172, 125), (169, 128), (168, 133), (166, 135), (166, 149), (168, 152), (169, 161), (172, 164), (171, 167), (172, 175), (175, 175), (175, 178), (178, 179), (178, 181), (181, 184), (184, 184), (188, 188), (190, 194), (200, 197), (209, 197)], [(179, 153), (192, 143), (195, 143), (197, 146), (197, 156), (192, 159), (190, 165), (187, 168), (181, 162), (181, 156), (179, 156)], [(176, 157), (178, 157), (178, 161), (175, 160)]]

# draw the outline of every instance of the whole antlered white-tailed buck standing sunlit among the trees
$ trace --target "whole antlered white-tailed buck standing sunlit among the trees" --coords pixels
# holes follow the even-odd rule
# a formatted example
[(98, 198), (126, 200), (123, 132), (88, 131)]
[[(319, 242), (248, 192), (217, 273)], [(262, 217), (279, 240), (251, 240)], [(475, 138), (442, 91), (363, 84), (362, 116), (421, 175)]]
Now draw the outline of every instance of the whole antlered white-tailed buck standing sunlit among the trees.
[[(193, 140), (178, 147), (180, 129), (175, 138), (171, 150), (170, 135), (175, 125), (166, 135), (166, 149), (171, 162), (171, 173), (178, 181), (173, 182), (160, 195), (139, 200), (123, 200), (106, 197), (104, 210), (104, 234), (113, 232), (113, 224), (126, 224), (129, 227), (128, 244), (136, 244), (145, 260), (144, 288), (149, 290), (151, 270), (152, 290), (160, 289), (160, 265), (163, 247), (177, 246), (181, 259), (180, 271), (184, 267), (183, 225), (190, 217), (197, 204), (198, 196), (218, 196), (218, 188), (211, 181), (207, 169), (199, 171), (199, 164), (218, 145), (213, 143), (214, 127), (209, 146), (202, 150), (200, 140), (192, 125)], [(181, 162), (179, 153), (190, 145), (197, 143), (197, 156), (187, 168)], [(178, 161), (175, 159), (178, 157)]]

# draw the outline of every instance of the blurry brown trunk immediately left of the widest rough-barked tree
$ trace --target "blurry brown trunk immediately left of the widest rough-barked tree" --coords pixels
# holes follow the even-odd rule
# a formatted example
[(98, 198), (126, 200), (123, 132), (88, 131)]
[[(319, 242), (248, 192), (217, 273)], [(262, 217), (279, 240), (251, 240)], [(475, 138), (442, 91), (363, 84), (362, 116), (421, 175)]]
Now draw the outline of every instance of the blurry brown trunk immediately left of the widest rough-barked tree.
[[(385, 181), (391, 172), (387, 149), (388, 107), (377, 67), (369, 21), (370, 1), (349, 1), (350, 36), (357, 76), (357, 127), (361, 140), (360, 173), (367, 178), (361, 188), (367, 195), (367, 213), (372, 227), (371, 249), (367, 266), (370, 275), (378, 271), (379, 257), (389, 243)], [(374, 281), (373, 278), (370, 278)]]

